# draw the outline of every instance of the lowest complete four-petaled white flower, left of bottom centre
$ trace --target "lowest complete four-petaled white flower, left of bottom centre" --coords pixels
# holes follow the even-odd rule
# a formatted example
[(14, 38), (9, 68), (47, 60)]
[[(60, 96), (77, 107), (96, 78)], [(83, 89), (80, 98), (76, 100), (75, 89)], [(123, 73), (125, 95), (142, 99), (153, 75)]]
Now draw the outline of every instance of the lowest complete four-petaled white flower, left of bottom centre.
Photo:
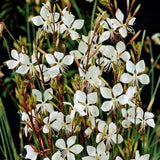
[(63, 158), (67, 157), (68, 160), (75, 160), (74, 154), (79, 154), (83, 150), (83, 147), (80, 144), (74, 145), (75, 142), (76, 136), (72, 136), (67, 139), (67, 146), (63, 139), (58, 139), (55, 146), (62, 150)]

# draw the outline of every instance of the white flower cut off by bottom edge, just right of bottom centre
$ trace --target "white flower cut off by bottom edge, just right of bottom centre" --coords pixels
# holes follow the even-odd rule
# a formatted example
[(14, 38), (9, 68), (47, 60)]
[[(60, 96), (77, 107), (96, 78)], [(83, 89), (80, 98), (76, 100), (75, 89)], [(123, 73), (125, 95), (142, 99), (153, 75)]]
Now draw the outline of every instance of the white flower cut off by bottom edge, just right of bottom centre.
[(106, 146), (104, 142), (97, 145), (97, 149), (87, 145), (87, 153), (89, 156), (83, 157), (82, 160), (108, 160), (109, 154), (106, 155)]

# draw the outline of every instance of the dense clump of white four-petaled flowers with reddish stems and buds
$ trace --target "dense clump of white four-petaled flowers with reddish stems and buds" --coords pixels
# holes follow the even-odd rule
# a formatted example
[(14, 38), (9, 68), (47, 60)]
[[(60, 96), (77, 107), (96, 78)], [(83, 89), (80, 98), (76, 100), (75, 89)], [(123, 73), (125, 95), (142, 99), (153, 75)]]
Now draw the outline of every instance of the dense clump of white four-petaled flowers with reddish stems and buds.
[[(139, 98), (141, 84), (150, 82), (145, 62), (127, 51), (125, 38), (131, 34), (135, 13), (128, 13), (124, 22), (119, 8), (114, 16), (103, 12), (95, 19), (93, 30), (81, 35), (77, 30), (84, 20), (75, 19), (69, 7), (58, 8), (60, 13), (55, 8), (47, 2), (40, 15), (32, 18), (40, 27), (33, 53), (13, 49), (12, 59), (6, 62), (21, 77), (16, 95), (24, 98), (19, 106), (25, 136), (34, 135), (38, 141), (38, 145), (25, 145), (25, 158), (125, 159), (125, 154), (113, 157), (113, 152), (127, 140), (127, 131), (136, 127), (143, 135), (147, 126), (155, 127), (154, 114), (144, 112)], [(53, 38), (50, 50), (41, 44), (47, 36)], [(135, 38), (133, 35), (132, 40)], [(68, 47), (70, 41), (77, 46)], [(76, 70), (75, 76), (68, 76), (70, 70)], [(135, 151), (133, 147), (127, 153), (125, 147), (126, 154)], [(137, 148), (130, 159), (148, 160), (149, 155), (140, 156)]]

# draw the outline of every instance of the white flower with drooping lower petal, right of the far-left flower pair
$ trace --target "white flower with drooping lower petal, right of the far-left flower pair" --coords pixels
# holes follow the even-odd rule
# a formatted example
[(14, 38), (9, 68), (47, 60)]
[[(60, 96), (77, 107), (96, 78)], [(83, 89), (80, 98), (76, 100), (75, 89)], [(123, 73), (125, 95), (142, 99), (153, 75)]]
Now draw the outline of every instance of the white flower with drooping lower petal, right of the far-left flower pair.
[(50, 53), (46, 54), (46, 60), (48, 64), (54, 65), (48, 70), (51, 78), (56, 77), (60, 74), (60, 71), (63, 73), (68, 68), (68, 65), (73, 63), (73, 56), (66, 55), (61, 52), (54, 52), (54, 56)]

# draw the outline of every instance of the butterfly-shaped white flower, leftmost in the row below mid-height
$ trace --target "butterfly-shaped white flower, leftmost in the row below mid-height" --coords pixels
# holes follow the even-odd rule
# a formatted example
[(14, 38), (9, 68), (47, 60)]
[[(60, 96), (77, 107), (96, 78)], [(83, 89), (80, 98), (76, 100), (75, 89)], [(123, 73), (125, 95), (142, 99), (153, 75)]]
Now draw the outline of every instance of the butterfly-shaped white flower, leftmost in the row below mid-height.
[(42, 93), (37, 89), (32, 89), (32, 94), (36, 96), (37, 101), (40, 102), (36, 105), (37, 111), (41, 111), (42, 113), (45, 113), (46, 111), (52, 112), (53, 106), (50, 103), (47, 103), (48, 100), (52, 99), (51, 94), (53, 94), (52, 88), (48, 88), (44, 91), (43, 97)]

